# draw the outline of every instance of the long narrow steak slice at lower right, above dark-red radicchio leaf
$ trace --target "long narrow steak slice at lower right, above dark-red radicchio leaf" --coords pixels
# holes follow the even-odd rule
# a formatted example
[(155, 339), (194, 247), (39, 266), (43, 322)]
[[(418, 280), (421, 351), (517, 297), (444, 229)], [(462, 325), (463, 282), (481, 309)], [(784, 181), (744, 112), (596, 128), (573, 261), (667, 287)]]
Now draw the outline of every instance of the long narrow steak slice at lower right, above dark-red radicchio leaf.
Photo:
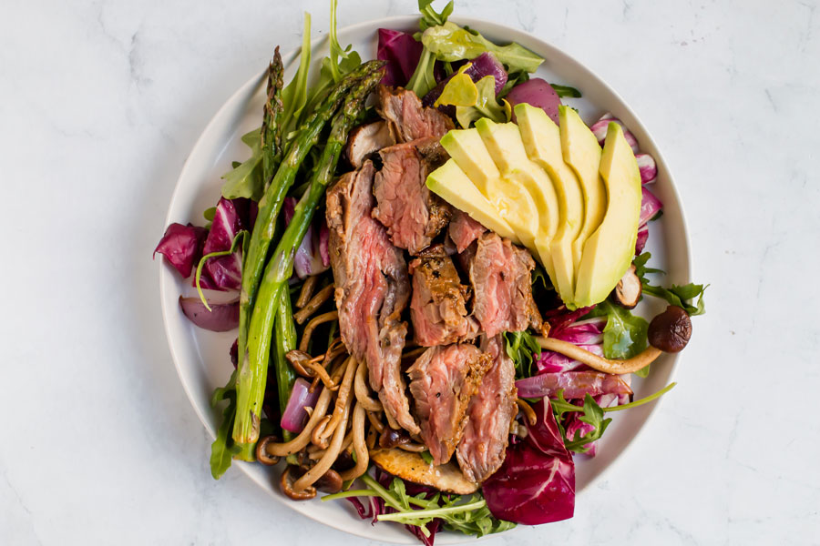
[(487, 480), (507, 455), (509, 426), (518, 413), (516, 367), (498, 335), (482, 340), (481, 349), (493, 359), (478, 391), (470, 400), (467, 423), (456, 459), (467, 480)]

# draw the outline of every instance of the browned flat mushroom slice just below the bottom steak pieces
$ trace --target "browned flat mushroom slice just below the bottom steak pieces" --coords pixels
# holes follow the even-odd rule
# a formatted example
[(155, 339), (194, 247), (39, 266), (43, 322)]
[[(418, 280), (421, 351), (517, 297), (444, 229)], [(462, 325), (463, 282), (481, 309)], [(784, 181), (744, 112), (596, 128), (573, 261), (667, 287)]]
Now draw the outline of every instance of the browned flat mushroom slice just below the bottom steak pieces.
[(435, 466), (425, 462), (421, 455), (411, 451), (391, 449), (375, 450), (370, 453), (376, 466), (402, 480), (420, 483), (437, 490), (469, 495), (478, 490), (478, 484), (469, 481), (452, 462)]

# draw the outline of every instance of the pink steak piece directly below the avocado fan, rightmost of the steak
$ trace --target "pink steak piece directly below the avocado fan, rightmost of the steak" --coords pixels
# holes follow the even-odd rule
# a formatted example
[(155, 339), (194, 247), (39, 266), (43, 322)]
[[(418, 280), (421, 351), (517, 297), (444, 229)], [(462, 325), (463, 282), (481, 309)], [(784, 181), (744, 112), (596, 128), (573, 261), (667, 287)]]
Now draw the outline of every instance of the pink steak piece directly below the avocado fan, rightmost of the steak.
[(490, 231), (478, 238), (468, 266), (473, 317), (487, 336), (530, 326), (542, 329), (541, 314), (532, 298), (530, 271), (535, 261), (527, 250)]

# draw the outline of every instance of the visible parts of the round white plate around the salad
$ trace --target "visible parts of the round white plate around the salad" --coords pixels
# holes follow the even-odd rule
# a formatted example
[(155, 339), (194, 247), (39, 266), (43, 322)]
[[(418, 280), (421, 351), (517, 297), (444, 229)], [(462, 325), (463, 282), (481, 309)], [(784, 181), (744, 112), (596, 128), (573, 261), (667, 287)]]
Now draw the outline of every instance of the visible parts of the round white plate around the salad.
[[(374, 58), (376, 50), (376, 29), (379, 27), (415, 31), (418, 18), (415, 15), (389, 17), (343, 28), (339, 31), (339, 41), (343, 45), (353, 44), (354, 49), (363, 59)], [(603, 113), (609, 111), (630, 128), (638, 138), (641, 151), (649, 153), (658, 164), (658, 181), (651, 187), (664, 204), (660, 221), (652, 222), (648, 249), (652, 252), (653, 267), (669, 272), (666, 282), (678, 284), (690, 280), (689, 245), (683, 212), (672, 183), (671, 174), (660, 151), (652, 142), (651, 136), (632, 112), (629, 106), (607, 86), (598, 76), (578, 61), (549, 45), (536, 36), (507, 26), (489, 23), (467, 17), (453, 17), (459, 25), (469, 25), (477, 29), (488, 39), (498, 43), (518, 42), (528, 47), (546, 62), (538, 70), (538, 76), (551, 83), (575, 86), (583, 93), (582, 99), (566, 101), (570, 106), (579, 108), (584, 120), (591, 124)], [(297, 52), (283, 57), (286, 66), (286, 81), (295, 72)], [(313, 42), (313, 60), (318, 61), (327, 55), (327, 40), (322, 37)], [(315, 70), (314, 63), (314, 70)], [(247, 148), (240, 142), (240, 136), (261, 123), (263, 98), (263, 74), (247, 82), (220, 108), (210, 121), (199, 141), (190, 152), (185, 166), (179, 175), (177, 187), (171, 197), (166, 222), (193, 222), (203, 224), (202, 212), (212, 207), (220, 196), (220, 176), (231, 169), (232, 160), (248, 157)], [(179, 379), (188, 394), (191, 404), (200, 416), (205, 428), (214, 436), (219, 426), (220, 412), (211, 410), (210, 393), (216, 387), (225, 384), (231, 375), (231, 361), (228, 349), (236, 334), (228, 332), (216, 334), (194, 327), (179, 309), (180, 293), (190, 293), (190, 281), (179, 278), (172, 268), (159, 263), (159, 292), (162, 300), (162, 314), (168, 335), (171, 355), (179, 372)], [(651, 313), (662, 308), (660, 302), (654, 302)], [(653, 364), (651, 376), (645, 380), (636, 380), (633, 384), (635, 397), (641, 398), (661, 389), (669, 383), (674, 369), (676, 356), (663, 355)], [(677, 393), (673, 393), (675, 396)], [(646, 424), (655, 409), (657, 402), (640, 408), (624, 411), (613, 416), (613, 422), (599, 446), (599, 455), (594, 459), (584, 456), (576, 457), (576, 490), (577, 502), (584, 501), (585, 490), (593, 480), (600, 477), (604, 470), (626, 450), (638, 432)], [(209, 453), (203, 452), (203, 458)], [(276, 501), (281, 501), (288, 510), (320, 521), (326, 525), (354, 533), (373, 541), (414, 544), (415, 537), (402, 527), (388, 523), (372, 526), (370, 521), (358, 518), (348, 502), (320, 502), (318, 499), (307, 502), (290, 501), (273, 485), (272, 470), (260, 464), (234, 461), (234, 467), (247, 473), (259, 486), (271, 493)], [(474, 537), (455, 533), (441, 533), (436, 537), (436, 544), (455, 544), (473, 541)]]

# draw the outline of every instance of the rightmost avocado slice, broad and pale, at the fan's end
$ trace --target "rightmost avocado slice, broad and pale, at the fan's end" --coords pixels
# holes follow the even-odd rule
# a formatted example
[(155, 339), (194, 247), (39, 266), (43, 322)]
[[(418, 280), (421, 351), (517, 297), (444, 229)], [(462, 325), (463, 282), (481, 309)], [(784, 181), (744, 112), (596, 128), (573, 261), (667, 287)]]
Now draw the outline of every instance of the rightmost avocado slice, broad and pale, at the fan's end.
[(575, 303), (579, 307), (607, 298), (635, 255), (641, 217), (641, 172), (617, 123), (607, 127), (600, 176), (606, 184), (609, 203), (600, 227), (584, 245), (575, 288)]

